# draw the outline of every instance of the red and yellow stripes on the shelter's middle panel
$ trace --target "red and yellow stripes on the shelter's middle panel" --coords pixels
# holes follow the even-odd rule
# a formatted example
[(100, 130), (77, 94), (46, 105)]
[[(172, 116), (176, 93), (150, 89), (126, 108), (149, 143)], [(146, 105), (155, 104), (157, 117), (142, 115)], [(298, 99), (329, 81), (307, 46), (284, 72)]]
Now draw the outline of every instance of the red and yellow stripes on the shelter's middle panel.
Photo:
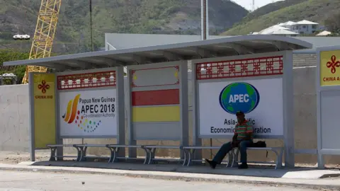
[(132, 92), (132, 122), (178, 122), (179, 89)]

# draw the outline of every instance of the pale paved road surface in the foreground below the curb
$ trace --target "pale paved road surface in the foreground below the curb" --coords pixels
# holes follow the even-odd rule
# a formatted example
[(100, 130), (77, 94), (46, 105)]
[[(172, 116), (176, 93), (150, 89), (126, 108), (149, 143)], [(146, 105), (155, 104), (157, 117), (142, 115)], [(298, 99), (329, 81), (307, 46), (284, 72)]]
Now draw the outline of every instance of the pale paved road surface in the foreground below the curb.
[[(84, 184), (83, 184), (84, 183)], [(294, 187), (219, 184), (184, 182), (174, 180), (154, 180), (146, 178), (130, 178), (115, 175), (38, 173), (19, 171), (0, 171), (0, 191), (38, 191), (38, 190), (140, 190), (140, 191), (200, 191), (200, 190), (261, 190), (261, 191), (295, 191)]]

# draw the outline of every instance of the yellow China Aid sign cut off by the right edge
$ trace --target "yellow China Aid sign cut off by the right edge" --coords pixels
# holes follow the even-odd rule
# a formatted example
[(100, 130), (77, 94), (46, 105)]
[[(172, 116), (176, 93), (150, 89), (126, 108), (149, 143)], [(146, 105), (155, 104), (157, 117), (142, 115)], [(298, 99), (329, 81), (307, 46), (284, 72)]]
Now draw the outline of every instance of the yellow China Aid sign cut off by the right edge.
[(340, 85), (340, 50), (320, 52), (320, 86)]

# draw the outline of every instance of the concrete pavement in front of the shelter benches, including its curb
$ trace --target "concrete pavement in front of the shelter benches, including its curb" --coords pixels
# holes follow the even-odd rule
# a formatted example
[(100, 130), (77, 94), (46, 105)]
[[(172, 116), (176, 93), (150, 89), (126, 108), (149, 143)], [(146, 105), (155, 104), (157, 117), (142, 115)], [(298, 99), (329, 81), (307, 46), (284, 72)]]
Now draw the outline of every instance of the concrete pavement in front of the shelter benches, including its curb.
[[(208, 183), (247, 183), (247, 184), (261, 184), (261, 185), (294, 185), (295, 187), (307, 187), (312, 189), (333, 189), (340, 190), (340, 181), (332, 179), (332, 178), (314, 178), (308, 179), (303, 178), (303, 175), (299, 173), (295, 173), (295, 178), (290, 176), (290, 178), (264, 178), (259, 176), (249, 176), (244, 173), (246, 170), (240, 171), (238, 169), (234, 169), (234, 171), (243, 172), (244, 175), (225, 175), (225, 174), (211, 174), (211, 169), (205, 166), (202, 167), (188, 167), (191, 168), (191, 173), (178, 172), (181, 168), (179, 165), (174, 168), (171, 165), (137, 165), (131, 163), (115, 163), (115, 168), (120, 166), (120, 168), (129, 167), (130, 170), (121, 170), (121, 169), (102, 169), (102, 168), (94, 168), (93, 165), (105, 165), (109, 166), (108, 163), (82, 163), (84, 167), (66, 167), (66, 166), (77, 166), (79, 163), (74, 162), (62, 162), (64, 165), (60, 165), (61, 162), (47, 162), (45, 165), (49, 166), (28, 166), (30, 163), (21, 163), (21, 165), (9, 165), (9, 164), (0, 164), (0, 170), (26, 170), (29, 172), (57, 172), (57, 173), (81, 173), (81, 174), (98, 174), (98, 175), (124, 175), (133, 178), (153, 178), (158, 180), (184, 180), (184, 181), (196, 181), (196, 182), (208, 182)], [(90, 164), (92, 166), (90, 166)], [(55, 166), (58, 165), (58, 166)], [(113, 165), (113, 164), (112, 164)], [(139, 166), (138, 170), (136, 166)], [(90, 168), (89, 168), (90, 167)], [(149, 170), (145, 170), (145, 168), (149, 168)], [(155, 171), (157, 170), (166, 170), (167, 171)], [(186, 169), (186, 168), (183, 168)], [(196, 172), (195, 172), (196, 169)], [(197, 170), (198, 169), (198, 170)], [(198, 173), (199, 170), (205, 170), (206, 173)], [(215, 171), (220, 170), (220, 172), (229, 172), (227, 168), (216, 169)], [(247, 169), (248, 174), (252, 171), (256, 172), (256, 169), (251, 170)], [(273, 170), (272, 170), (273, 171)], [(276, 170), (277, 171), (277, 170)], [(314, 170), (314, 173), (318, 173), (318, 170)], [(265, 171), (264, 172), (270, 172)], [(280, 170), (278, 170), (280, 172)], [(293, 171), (294, 172), (294, 171)], [(305, 174), (312, 174), (313, 171), (303, 171)], [(327, 171), (324, 171), (327, 172)], [(230, 172), (229, 172), (230, 173)], [(327, 172), (329, 173), (329, 172)], [(296, 176), (300, 175), (299, 176)], [(318, 173), (319, 174), (319, 173)], [(329, 174), (329, 175), (339, 175), (339, 174)], [(315, 175), (317, 177), (319, 175)]]

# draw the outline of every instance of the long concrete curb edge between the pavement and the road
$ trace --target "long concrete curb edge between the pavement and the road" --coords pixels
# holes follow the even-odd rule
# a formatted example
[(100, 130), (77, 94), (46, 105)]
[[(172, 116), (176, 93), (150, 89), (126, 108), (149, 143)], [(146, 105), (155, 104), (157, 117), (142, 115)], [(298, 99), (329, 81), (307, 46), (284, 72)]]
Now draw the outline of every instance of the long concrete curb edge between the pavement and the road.
[(313, 190), (340, 190), (340, 185), (318, 185), (308, 183), (282, 183), (263, 180), (232, 180), (224, 178), (197, 178), (183, 177), (181, 175), (152, 175), (152, 174), (137, 174), (137, 173), (115, 173), (115, 172), (98, 172), (89, 170), (71, 170), (71, 169), (48, 169), (48, 168), (23, 168), (23, 167), (0, 167), (0, 170), (11, 171), (26, 171), (26, 172), (41, 172), (41, 173), (76, 173), (76, 174), (96, 174), (96, 175), (123, 175), (132, 178), (152, 178), (157, 180), (181, 180), (186, 182), (208, 182), (208, 183), (242, 183), (250, 185), (269, 185), (269, 186), (285, 186), (285, 187), (304, 187)]

